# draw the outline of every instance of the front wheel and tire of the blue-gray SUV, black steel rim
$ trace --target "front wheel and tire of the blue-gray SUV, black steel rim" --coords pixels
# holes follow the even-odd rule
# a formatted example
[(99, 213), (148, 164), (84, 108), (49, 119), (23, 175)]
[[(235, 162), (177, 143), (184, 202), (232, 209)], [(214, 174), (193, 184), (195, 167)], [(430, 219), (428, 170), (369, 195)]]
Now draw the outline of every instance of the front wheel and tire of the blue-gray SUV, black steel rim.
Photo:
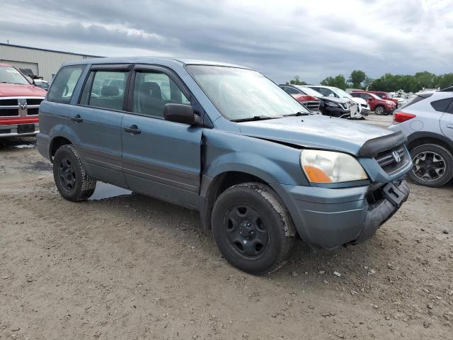
[(212, 232), (225, 259), (252, 274), (280, 268), (295, 242), (289, 212), (274, 191), (261, 183), (226, 189), (214, 203)]

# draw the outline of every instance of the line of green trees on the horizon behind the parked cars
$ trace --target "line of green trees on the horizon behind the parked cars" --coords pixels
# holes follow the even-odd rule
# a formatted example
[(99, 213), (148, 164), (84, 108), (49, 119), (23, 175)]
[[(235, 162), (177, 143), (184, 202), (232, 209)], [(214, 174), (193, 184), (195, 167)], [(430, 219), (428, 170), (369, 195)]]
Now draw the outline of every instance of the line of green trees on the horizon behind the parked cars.
[[(288, 83), (287, 83), (288, 84)], [(299, 76), (289, 81), (289, 84), (306, 84)], [(371, 79), (360, 69), (351, 72), (350, 77), (345, 79), (343, 74), (336, 77), (327, 77), (320, 83), (325, 86), (335, 86), (340, 89), (368, 89), (372, 91), (394, 92), (403, 90), (405, 92), (418, 92), (422, 89), (444, 89), (453, 86), (453, 73), (433, 74), (428, 71), (411, 74), (386, 73), (377, 79)]]

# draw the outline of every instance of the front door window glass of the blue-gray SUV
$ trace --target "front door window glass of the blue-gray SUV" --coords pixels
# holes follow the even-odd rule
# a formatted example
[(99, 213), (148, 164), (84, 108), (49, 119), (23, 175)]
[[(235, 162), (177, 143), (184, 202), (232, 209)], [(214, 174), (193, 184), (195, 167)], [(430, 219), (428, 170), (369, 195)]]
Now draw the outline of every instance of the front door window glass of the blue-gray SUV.
[(164, 106), (167, 103), (190, 105), (188, 98), (167, 74), (156, 71), (135, 74), (134, 113), (164, 118)]

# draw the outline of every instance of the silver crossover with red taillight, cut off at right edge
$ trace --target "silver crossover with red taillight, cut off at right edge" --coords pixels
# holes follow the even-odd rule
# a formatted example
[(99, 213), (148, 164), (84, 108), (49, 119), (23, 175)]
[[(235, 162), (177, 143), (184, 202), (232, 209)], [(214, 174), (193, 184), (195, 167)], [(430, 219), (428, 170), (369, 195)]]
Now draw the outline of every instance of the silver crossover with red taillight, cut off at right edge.
[(389, 128), (408, 138), (412, 181), (437, 187), (452, 179), (453, 92), (420, 94), (394, 112), (394, 123)]

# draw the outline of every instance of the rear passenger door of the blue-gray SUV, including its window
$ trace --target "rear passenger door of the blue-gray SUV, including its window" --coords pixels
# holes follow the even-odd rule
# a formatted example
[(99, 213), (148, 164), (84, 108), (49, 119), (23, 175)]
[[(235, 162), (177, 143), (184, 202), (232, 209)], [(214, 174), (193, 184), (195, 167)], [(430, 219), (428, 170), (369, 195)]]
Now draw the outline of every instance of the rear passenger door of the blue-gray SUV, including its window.
[(131, 66), (96, 64), (91, 67), (71, 115), (71, 131), (88, 174), (96, 179), (126, 186), (121, 169), (121, 122)]

